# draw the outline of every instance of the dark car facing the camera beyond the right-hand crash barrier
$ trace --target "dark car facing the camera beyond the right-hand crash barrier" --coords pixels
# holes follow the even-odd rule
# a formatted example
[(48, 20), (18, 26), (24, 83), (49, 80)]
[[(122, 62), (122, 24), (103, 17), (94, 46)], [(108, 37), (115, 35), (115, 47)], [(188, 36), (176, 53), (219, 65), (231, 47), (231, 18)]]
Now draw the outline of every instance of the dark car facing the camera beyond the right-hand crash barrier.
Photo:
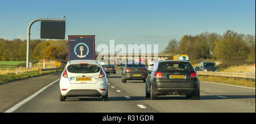
[(216, 66), (216, 63), (214, 63), (214, 62), (202, 61), (200, 63), (200, 71), (218, 72), (218, 67)]

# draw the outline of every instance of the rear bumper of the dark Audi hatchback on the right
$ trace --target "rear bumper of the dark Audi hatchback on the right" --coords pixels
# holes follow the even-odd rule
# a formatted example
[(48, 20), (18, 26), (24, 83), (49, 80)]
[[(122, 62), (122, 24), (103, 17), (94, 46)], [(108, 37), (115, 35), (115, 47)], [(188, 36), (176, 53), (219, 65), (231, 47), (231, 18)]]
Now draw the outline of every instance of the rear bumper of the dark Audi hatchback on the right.
[(152, 84), (155, 94), (186, 95), (199, 92), (197, 82), (157, 82)]

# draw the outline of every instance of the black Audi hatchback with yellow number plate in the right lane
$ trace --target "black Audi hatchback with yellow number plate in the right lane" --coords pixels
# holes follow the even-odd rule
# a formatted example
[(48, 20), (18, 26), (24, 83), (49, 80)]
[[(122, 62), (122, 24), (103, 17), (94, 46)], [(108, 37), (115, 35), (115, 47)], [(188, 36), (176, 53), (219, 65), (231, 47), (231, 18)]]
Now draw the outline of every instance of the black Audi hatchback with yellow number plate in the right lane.
[(146, 97), (185, 95), (200, 99), (200, 81), (189, 61), (158, 61), (146, 79)]

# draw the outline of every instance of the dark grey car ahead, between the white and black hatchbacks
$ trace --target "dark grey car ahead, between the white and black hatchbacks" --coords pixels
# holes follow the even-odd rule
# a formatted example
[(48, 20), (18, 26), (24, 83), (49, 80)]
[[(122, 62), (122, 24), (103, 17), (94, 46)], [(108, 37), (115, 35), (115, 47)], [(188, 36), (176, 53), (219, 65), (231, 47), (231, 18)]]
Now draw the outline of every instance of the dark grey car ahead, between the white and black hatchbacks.
[(145, 64), (128, 62), (122, 69), (122, 82), (125, 83), (127, 80), (143, 80), (146, 81), (148, 70)]

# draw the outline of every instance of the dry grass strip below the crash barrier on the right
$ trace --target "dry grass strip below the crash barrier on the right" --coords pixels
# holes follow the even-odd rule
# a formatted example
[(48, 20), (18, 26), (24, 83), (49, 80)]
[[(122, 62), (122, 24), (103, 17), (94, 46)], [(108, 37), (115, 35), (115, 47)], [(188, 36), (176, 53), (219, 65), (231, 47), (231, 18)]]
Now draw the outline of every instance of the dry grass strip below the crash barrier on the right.
[(237, 79), (232, 77), (199, 76), (199, 80), (255, 88), (255, 80), (247, 80), (244, 78)]

